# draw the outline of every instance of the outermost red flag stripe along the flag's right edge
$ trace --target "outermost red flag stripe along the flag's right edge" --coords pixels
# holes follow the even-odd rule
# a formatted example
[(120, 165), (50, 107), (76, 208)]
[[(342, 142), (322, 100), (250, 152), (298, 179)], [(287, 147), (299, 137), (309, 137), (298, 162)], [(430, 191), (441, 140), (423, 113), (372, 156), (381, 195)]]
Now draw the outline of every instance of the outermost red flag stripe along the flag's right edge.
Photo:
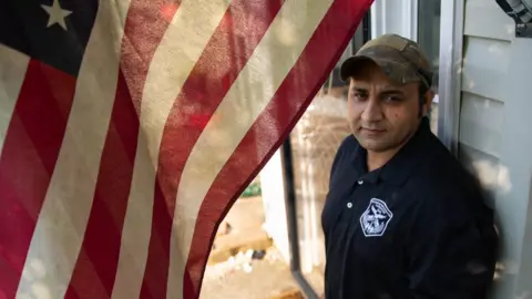
[[(372, 0), (337, 0), (332, 3), (273, 101), (216, 177), (200, 208), (186, 264), (191, 280), (188, 283), (184, 281), (183, 298), (198, 298), (217, 226), (286, 140), (329, 75), (371, 3)], [(309, 65), (311, 72), (308, 71)]]

